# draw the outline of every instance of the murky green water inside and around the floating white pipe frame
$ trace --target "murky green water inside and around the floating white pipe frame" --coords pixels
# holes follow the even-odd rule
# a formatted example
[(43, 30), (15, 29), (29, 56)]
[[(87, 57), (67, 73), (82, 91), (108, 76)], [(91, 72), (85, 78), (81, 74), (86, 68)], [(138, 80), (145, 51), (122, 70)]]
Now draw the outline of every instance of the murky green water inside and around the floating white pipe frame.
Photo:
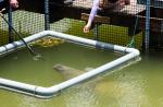
[[(54, 71), (57, 63), (85, 71), (112, 61), (121, 55), (63, 44), (51, 48), (34, 47), (43, 60), (35, 60), (27, 49), (0, 59), (0, 76), (40, 86), (64, 81)], [(1, 107), (163, 107), (162, 52), (141, 56), (142, 60), (84, 84), (73, 86), (51, 99), (0, 90)]]

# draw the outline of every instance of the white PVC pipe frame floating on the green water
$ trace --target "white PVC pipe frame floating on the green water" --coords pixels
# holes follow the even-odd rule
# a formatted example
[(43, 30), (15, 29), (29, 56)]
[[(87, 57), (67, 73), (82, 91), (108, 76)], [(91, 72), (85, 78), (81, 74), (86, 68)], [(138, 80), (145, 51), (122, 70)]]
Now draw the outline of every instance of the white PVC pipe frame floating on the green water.
[[(93, 69), (89, 72), (86, 72), (76, 78), (70, 79), (67, 81), (64, 81), (60, 84), (57, 84), (57, 85), (53, 85), (50, 87), (36, 86), (36, 85), (32, 85), (32, 84), (21, 83), (21, 82), (0, 78), (0, 88), (23, 93), (23, 94), (32, 95), (32, 96), (39, 97), (39, 98), (51, 98), (53, 95), (58, 94), (62, 90), (65, 90), (72, 85), (75, 85), (87, 79), (98, 75), (106, 70), (111, 71), (113, 68), (139, 57), (139, 54), (140, 54), (139, 50), (134, 49), (134, 48), (111, 45), (111, 44), (101, 43), (101, 41), (97, 41), (97, 40), (92, 40), (92, 39), (86, 39), (86, 38), (76, 37), (76, 36), (67, 35), (67, 34), (63, 34), (63, 33), (58, 33), (58, 32), (53, 32), (53, 31), (43, 31), (38, 34), (34, 34), (32, 36), (24, 38), (24, 40), (26, 43), (30, 43), (36, 39), (42, 38), (45, 36), (58, 37), (58, 38), (62, 38), (62, 39), (65, 39), (68, 41), (87, 45), (87, 46), (91, 46), (91, 47), (96, 47), (96, 48), (126, 52), (126, 55), (116, 60), (108, 62), (97, 69)], [(1, 46), (0, 54), (7, 54), (11, 50), (16, 50), (18, 47), (25, 47), (25, 45), (22, 40), (14, 41), (14, 43), (8, 44), (5, 46)]]

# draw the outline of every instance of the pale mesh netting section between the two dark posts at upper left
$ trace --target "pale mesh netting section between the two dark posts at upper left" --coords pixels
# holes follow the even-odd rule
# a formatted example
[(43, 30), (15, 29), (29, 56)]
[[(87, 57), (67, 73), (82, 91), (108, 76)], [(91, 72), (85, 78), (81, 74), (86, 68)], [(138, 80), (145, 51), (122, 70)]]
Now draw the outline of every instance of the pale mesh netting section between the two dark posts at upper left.
[(29, 36), (45, 29), (45, 16), (40, 13), (18, 10), (13, 12), (13, 26), (22, 36)]

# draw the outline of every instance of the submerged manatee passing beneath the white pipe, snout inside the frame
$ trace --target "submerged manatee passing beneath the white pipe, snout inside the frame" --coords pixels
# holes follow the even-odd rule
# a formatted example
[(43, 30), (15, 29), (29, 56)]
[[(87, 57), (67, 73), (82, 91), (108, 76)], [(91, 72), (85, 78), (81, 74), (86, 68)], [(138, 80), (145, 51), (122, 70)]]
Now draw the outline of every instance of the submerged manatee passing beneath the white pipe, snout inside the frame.
[[(71, 67), (66, 67), (64, 64), (55, 64), (53, 66), (53, 69), (58, 72), (60, 72), (65, 80), (70, 80), (72, 78), (75, 78), (79, 74), (83, 74), (85, 72), (88, 72), (92, 70), (92, 68), (86, 68), (84, 71), (77, 70)], [(103, 78), (99, 76), (95, 80), (90, 80), (87, 83), (88, 88), (93, 90), (98, 95), (109, 95), (111, 97), (122, 97), (125, 93), (127, 93), (127, 90), (118, 81), (105, 81)]]

